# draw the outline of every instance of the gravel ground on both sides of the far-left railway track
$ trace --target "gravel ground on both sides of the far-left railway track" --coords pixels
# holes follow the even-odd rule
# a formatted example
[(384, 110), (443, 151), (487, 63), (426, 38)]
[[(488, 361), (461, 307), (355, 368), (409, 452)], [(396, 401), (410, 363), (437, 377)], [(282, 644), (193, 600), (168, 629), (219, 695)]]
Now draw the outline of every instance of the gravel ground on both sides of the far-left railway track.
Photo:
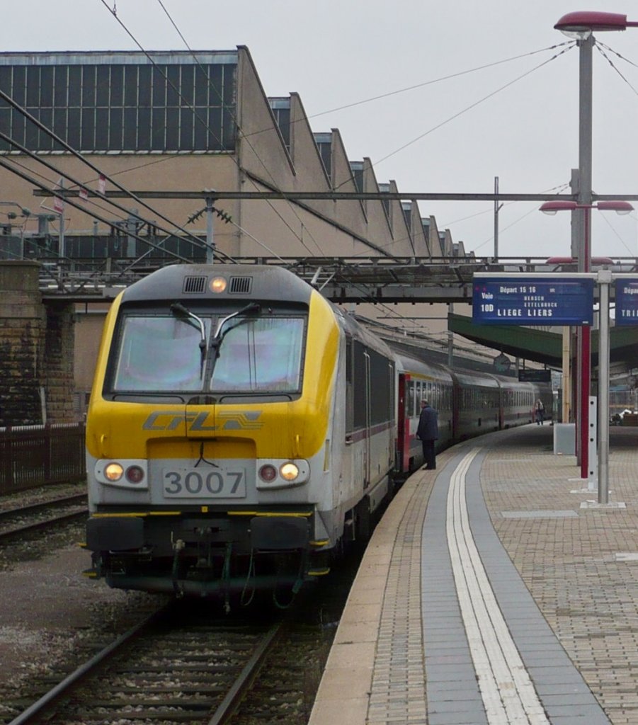
[[(82, 489), (32, 489), (1, 497), (0, 510)], [(162, 601), (84, 577), (91, 555), (78, 545), (82, 539), (80, 524), (0, 549), (0, 718), (7, 715), (3, 700), (64, 663), (74, 666), (83, 642), (104, 635), (106, 644)]]

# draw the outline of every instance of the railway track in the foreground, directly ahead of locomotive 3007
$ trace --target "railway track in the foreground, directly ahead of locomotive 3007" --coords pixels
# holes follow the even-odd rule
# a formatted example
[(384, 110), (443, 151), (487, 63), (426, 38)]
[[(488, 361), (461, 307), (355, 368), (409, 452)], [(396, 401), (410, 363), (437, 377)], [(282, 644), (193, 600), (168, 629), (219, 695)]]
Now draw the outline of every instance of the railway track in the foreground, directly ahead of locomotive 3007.
[(92, 655), (10, 725), (223, 725), (280, 626), (214, 621), (172, 602)]

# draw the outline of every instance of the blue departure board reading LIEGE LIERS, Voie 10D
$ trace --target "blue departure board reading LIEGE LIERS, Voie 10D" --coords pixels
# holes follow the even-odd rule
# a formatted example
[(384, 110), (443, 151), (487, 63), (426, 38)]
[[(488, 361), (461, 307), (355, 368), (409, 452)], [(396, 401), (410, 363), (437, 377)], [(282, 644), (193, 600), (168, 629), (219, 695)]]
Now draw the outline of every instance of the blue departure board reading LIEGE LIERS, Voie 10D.
[(477, 325), (591, 326), (594, 280), (474, 275), (472, 320)]

